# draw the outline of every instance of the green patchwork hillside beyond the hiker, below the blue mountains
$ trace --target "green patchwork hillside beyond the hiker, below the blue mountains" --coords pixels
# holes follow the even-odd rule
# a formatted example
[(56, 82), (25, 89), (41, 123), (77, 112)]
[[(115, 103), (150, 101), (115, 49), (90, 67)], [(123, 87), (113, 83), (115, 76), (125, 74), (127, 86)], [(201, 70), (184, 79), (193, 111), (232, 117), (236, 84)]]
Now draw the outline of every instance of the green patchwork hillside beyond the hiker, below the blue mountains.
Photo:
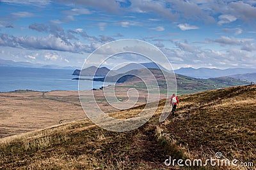
[[(164, 92), (164, 75), (161, 70), (159, 69), (149, 69), (152, 74), (156, 77), (157, 82), (159, 83), (160, 89)], [(167, 76), (170, 76), (170, 81), (172, 81), (172, 73), (164, 73)], [(94, 81), (112, 81), (118, 83), (126, 83), (128, 86), (133, 85), (134, 87), (140, 87), (146, 89), (145, 85), (139, 78), (136, 78), (138, 75), (141, 76), (146, 81), (152, 81), (152, 76), (148, 74), (146, 69), (134, 69), (128, 71), (127, 73), (123, 74), (116, 74), (115, 76), (107, 76), (106, 78), (93, 78)], [(239, 80), (236, 78), (230, 77), (220, 77), (220, 78), (193, 78), (189, 76), (184, 76), (181, 74), (175, 74), (177, 80), (177, 91), (179, 95), (183, 94), (193, 94), (195, 92), (202, 92), (204, 90), (213, 90), (213, 89), (221, 89), (225, 87), (231, 87), (236, 85), (248, 85), (250, 81)], [(169, 78), (169, 77), (167, 77)], [(119, 85), (125, 87), (125, 85)]]

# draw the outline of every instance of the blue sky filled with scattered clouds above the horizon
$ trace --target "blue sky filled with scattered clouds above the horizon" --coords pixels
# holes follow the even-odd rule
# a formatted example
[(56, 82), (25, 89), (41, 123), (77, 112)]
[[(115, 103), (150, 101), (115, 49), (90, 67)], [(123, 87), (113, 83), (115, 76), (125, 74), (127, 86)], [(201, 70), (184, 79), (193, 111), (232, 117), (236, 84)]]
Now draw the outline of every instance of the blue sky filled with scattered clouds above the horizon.
[(118, 39), (157, 46), (174, 69), (255, 68), (256, 1), (0, 0), (0, 59), (79, 68)]

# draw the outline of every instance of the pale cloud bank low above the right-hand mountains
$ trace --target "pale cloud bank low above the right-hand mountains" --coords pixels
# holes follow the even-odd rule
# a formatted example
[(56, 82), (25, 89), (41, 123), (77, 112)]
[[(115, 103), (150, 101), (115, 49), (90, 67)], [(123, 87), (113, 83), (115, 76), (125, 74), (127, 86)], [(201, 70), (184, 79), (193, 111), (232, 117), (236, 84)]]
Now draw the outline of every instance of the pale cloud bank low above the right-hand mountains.
[(175, 43), (175, 45), (177, 48), (161, 49), (175, 66), (189, 64), (193, 67), (228, 68), (255, 67), (256, 64), (256, 55), (245, 50), (230, 48), (218, 51), (188, 43)]

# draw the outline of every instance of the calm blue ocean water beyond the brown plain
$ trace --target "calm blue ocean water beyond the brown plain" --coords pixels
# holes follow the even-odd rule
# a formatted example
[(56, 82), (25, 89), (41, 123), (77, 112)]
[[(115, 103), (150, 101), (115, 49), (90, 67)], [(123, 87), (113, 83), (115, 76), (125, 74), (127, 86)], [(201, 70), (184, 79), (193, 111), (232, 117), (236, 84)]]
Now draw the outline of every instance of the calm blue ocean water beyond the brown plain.
[[(78, 76), (72, 75), (74, 70), (69, 69), (42, 69), (29, 67), (4, 67), (0, 66), (0, 92), (14, 90), (78, 90)], [(92, 78), (84, 76), (83, 78)], [(83, 80), (82, 90), (99, 89), (103, 82)], [(109, 85), (111, 83), (106, 83)], [(113, 84), (113, 83), (112, 83)]]

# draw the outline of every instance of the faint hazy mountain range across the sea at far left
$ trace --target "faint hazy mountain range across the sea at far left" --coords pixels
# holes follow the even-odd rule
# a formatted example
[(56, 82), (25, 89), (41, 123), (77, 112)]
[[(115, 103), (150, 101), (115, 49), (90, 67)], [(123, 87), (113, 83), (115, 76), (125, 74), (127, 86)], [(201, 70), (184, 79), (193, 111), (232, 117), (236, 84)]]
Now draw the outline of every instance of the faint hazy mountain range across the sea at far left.
[(75, 69), (76, 67), (62, 67), (58, 65), (43, 65), (43, 64), (34, 64), (31, 62), (16, 62), (13, 60), (3, 60), (0, 59), (0, 66), (8, 67), (31, 67), (31, 68), (43, 68), (43, 69)]

